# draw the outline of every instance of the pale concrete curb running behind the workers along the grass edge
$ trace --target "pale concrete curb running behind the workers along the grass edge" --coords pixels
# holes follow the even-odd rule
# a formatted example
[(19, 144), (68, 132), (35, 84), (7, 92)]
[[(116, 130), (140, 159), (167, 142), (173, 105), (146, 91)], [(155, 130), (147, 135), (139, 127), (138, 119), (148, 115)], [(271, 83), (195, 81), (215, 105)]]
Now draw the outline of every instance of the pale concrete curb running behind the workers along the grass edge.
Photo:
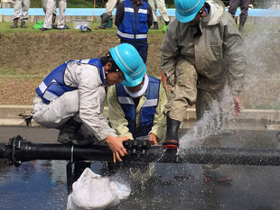
[[(25, 122), (19, 114), (28, 113), (32, 110), (32, 105), (0, 105), (0, 125), (24, 125)], [(107, 107), (104, 109), (104, 115), (107, 117)], [(196, 121), (194, 108), (188, 109), (185, 121)], [(238, 115), (236, 121), (262, 122), (264, 124), (280, 123), (280, 110), (246, 109)], [(36, 125), (34, 122), (33, 124)]]

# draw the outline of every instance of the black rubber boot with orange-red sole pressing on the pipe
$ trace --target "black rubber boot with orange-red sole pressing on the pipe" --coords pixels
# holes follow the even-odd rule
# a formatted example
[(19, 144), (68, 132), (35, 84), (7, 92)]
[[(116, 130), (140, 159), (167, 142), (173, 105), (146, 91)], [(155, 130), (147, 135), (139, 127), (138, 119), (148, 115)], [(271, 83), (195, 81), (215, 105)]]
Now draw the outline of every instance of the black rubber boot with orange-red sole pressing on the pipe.
[(167, 129), (163, 148), (177, 150), (179, 147), (178, 130), (181, 122), (167, 116)]

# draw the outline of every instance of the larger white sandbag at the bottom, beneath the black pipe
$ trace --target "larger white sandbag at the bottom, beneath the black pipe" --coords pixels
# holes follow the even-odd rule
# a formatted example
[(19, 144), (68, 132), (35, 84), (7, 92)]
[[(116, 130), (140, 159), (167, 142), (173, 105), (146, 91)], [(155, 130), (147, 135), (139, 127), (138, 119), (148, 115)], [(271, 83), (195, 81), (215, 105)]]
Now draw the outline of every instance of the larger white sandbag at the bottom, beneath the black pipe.
[(108, 178), (101, 178), (89, 168), (85, 169), (72, 186), (68, 196), (68, 210), (105, 209), (119, 203)]

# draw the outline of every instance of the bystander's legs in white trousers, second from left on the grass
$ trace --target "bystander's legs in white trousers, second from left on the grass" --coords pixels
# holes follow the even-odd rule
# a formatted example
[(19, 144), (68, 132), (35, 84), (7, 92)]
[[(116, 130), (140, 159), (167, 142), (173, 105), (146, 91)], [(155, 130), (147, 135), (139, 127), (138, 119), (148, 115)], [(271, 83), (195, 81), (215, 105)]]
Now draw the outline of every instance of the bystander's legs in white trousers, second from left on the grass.
[(66, 0), (47, 0), (47, 10), (46, 10), (45, 20), (41, 31), (46, 31), (51, 29), (53, 9), (56, 7), (57, 1), (59, 2), (59, 8), (60, 8), (60, 17), (58, 20), (57, 29), (59, 30), (66, 29), (65, 27), (65, 10), (67, 7)]

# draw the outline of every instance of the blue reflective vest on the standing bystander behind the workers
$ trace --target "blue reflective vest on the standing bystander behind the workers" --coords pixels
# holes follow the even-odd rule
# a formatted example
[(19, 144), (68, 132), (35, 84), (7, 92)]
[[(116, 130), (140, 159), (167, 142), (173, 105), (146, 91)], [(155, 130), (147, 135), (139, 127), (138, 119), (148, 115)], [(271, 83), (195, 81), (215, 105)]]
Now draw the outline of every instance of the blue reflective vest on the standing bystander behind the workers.
[(135, 11), (130, 0), (125, 0), (125, 14), (124, 20), (118, 26), (117, 36), (128, 40), (146, 40), (147, 32), (149, 30), (147, 24), (148, 4), (143, 1), (144, 5), (140, 5), (135, 20)]

